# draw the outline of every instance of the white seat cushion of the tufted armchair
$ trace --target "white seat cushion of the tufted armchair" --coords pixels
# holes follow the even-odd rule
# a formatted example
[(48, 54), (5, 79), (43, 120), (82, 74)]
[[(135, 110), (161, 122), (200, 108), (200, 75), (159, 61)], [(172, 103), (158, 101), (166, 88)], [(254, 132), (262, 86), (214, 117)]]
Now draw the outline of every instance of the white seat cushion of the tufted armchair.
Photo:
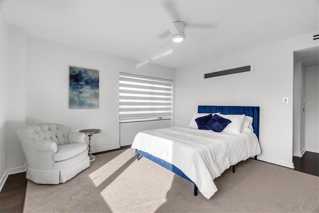
[(54, 161), (64, 161), (84, 152), (87, 149), (86, 143), (74, 143), (57, 147), (58, 151), (54, 154)]

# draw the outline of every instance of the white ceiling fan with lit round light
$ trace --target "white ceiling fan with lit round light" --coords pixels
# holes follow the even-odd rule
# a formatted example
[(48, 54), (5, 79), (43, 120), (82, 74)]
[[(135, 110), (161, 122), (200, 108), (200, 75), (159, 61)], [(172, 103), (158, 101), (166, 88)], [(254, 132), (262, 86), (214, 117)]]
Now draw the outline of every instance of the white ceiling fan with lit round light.
[(187, 23), (185, 24), (184, 21), (181, 21), (178, 17), (178, 13), (176, 10), (176, 6), (174, 1), (163, 1), (162, 7), (168, 18), (162, 19), (163, 24), (167, 27), (168, 30), (161, 33), (159, 38), (164, 39), (167, 36), (171, 35), (171, 40), (173, 42), (182, 42), (185, 38), (185, 26), (187, 28), (212, 28), (212, 24), (202, 24), (202, 23)]

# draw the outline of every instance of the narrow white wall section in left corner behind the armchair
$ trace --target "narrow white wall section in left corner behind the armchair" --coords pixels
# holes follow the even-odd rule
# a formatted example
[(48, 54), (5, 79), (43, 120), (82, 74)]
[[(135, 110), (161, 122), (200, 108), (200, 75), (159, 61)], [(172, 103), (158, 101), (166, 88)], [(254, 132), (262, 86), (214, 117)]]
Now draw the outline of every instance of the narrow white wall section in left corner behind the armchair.
[(22, 27), (8, 24), (7, 73), (7, 169), (24, 170), (24, 155), (15, 134), (25, 125), (25, 32)]

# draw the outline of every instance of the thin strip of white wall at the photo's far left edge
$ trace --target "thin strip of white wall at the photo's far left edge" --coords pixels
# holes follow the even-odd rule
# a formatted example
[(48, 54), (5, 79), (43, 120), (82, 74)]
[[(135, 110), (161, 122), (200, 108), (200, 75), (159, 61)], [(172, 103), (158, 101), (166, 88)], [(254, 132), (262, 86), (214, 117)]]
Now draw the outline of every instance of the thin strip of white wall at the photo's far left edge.
[[(2, 1), (1, 1), (2, 3)], [(7, 24), (0, 10), (0, 189), (6, 179)]]

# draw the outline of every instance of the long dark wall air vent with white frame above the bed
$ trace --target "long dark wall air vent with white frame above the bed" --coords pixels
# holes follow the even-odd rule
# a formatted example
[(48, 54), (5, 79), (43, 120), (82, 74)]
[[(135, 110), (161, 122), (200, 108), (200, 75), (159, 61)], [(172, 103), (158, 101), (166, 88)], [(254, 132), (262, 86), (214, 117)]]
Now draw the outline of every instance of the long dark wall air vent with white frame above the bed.
[(251, 74), (254, 72), (253, 67), (254, 67), (254, 62), (252, 61), (252, 62), (237, 64), (237, 65), (228, 66), (224, 68), (208, 70), (203, 73), (203, 79)]

